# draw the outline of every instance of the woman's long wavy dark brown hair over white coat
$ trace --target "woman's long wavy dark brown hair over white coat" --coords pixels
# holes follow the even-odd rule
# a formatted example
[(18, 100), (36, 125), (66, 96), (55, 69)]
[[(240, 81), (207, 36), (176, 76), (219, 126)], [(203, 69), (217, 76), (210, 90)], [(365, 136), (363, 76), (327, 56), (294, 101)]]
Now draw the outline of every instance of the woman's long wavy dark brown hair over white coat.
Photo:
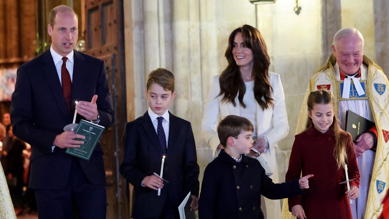
[[(273, 88), (268, 79), (270, 58), (267, 53), (266, 43), (259, 30), (250, 25), (236, 28), (228, 38), (228, 46), (224, 54), (227, 58), (228, 66), (221, 72), (219, 78), (220, 93), (218, 96), (223, 97), (222, 102), (231, 102), (233, 106), (236, 106), (235, 97), (238, 95), (239, 104), (246, 108), (246, 104), (243, 102), (246, 86), (240, 76), (239, 66), (236, 64), (232, 54), (234, 38), (237, 33), (242, 33), (245, 45), (252, 50), (254, 59), (252, 68), (254, 97), (262, 110), (274, 107), (274, 99), (271, 97)], [(265, 101), (262, 100), (262, 97)]]

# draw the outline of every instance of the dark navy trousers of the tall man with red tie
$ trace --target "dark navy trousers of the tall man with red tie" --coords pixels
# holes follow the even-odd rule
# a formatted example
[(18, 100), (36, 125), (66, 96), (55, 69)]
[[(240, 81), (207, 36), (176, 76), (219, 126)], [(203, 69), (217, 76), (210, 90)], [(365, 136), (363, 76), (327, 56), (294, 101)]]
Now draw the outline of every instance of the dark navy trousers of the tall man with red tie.
[(35, 189), (39, 219), (105, 219), (107, 194), (105, 185), (93, 185), (74, 157), (69, 181), (60, 191)]

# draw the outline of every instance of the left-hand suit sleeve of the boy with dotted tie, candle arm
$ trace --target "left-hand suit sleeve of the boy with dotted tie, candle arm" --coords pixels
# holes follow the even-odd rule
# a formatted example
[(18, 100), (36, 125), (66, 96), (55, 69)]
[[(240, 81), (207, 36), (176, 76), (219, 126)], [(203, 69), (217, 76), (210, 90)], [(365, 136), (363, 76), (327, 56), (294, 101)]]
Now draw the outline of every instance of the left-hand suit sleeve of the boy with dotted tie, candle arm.
[(123, 140), (123, 160), (120, 164), (119, 171), (123, 177), (135, 187), (142, 186), (142, 180), (147, 174), (140, 171), (137, 167), (137, 145), (139, 142), (136, 132), (136, 124), (128, 122), (124, 130)]

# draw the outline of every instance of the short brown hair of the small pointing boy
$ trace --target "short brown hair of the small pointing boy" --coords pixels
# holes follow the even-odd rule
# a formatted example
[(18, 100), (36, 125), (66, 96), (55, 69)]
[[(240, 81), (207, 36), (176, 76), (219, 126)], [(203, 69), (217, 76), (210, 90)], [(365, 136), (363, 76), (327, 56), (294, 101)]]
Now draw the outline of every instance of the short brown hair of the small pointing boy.
[(242, 131), (254, 131), (250, 120), (236, 115), (226, 116), (217, 126), (217, 135), (219, 136), (220, 144), (226, 148), (228, 137), (237, 138)]

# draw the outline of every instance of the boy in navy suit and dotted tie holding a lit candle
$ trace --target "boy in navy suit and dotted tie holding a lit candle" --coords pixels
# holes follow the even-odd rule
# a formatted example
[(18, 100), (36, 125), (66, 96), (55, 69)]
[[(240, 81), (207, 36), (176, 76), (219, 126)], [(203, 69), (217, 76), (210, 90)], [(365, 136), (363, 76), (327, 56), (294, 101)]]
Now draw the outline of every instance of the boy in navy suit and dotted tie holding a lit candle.
[[(120, 173), (133, 186), (131, 217), (179, 218), (178, 206), (189, 191), (191, 210), (198, 208), (199, 166), (195, 139), (190, 122), (168, 111), (174, 92), (174, 75), (167, 69), (156, 69), (147, 77), (145, 96), (148, 111), (126, 124), (124, 156)], [(165, 155), (163, 180), (160, 173)], [(158, 189), (161, 189), (160, 196)]]

